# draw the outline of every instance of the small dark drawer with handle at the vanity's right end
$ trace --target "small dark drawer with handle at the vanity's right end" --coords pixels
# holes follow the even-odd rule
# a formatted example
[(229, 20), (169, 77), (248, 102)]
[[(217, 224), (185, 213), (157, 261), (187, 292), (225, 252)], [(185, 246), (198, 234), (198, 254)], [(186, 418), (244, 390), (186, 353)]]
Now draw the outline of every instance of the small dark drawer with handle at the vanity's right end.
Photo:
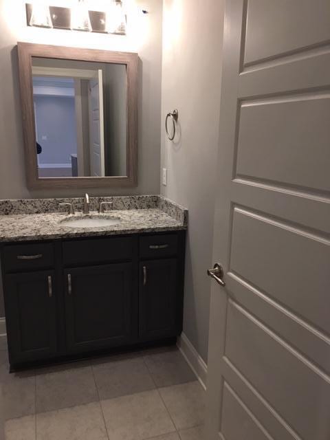
[(177, 234), (140, 237), (140, 257), (145, 259), (177, 254)]

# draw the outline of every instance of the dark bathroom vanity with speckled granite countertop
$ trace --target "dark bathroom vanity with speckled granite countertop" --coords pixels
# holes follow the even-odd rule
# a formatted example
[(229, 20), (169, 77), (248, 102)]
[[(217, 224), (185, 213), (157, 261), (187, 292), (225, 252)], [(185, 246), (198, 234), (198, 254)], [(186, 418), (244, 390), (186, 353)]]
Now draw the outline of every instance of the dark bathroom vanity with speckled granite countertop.
[[(114, 209), (89, 217), (113, 217), (117, 224), (69, 227), (67, 219), (84, 216), (48, 212), (58, 201), (32, 201), (30, 210), (43, 210), (38, 214), (11, 207), (0, 216), (12, 369), (181, 333), (186, 210), (159, 196), (102, 201)], [(81, 200), (71, 202), (79, 210)]]

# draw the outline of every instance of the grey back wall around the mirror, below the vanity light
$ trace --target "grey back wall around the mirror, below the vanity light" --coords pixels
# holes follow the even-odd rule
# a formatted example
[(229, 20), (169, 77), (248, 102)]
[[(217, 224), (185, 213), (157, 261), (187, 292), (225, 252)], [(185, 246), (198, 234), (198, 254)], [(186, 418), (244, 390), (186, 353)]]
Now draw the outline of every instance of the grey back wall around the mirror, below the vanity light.
[(91, 195), (159, 193), (162, 0), (144, 0), (150, 13), (132, 21), (128, 36), (30, 28), (23, 1), (0, 1), (0, 198), (57, 197), (84, 190), (30, 191), (25, 184), (17, 41), (138, 52), (139, 174), (137, 188), (96, 188)]

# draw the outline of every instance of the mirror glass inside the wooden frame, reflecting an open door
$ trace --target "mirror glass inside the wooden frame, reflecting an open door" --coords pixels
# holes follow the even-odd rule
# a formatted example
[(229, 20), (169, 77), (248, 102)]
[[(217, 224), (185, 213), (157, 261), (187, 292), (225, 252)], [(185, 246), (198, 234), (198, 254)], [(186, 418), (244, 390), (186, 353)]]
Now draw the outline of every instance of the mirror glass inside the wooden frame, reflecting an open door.
[(126, 65), (32, 57), (39, 177), (126, 176)]

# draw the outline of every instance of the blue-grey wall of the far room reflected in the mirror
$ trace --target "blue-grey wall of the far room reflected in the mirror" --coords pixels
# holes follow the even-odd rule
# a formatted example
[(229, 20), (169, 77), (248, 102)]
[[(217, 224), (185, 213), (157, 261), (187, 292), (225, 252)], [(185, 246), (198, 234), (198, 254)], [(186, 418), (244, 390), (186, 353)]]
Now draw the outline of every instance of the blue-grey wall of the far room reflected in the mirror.
[[(43, 151), (40, 164), (71, 164), (77, 153), (76, 109), (74, 98), (34, 96), (38, 140)], [(47, 140), (42, 137), (47, 136)]]

